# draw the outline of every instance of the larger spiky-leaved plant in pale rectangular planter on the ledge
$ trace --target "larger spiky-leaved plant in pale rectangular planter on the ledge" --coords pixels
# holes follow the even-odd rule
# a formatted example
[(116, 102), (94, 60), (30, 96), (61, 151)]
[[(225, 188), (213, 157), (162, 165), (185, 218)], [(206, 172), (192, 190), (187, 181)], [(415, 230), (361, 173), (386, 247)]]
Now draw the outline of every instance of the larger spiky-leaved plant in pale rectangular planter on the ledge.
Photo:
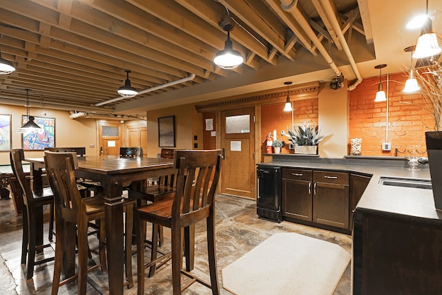
[(289, 134), (286, 136), (294, 144), (295, 153), (318, 153), (318, 143), (327, 136), (327, 134), (321, 135), (318, 127), (310, 127), (306, 122), (298, 128), (294, 126), (293, 130), (287, 128), (287, 131)]

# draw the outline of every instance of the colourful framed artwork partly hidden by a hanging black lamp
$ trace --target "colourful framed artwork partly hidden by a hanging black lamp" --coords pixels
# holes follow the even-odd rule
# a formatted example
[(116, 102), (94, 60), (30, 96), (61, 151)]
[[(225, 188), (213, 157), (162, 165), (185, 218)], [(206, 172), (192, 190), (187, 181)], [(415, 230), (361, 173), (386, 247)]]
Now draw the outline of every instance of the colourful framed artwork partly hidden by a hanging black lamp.
[[(23, 115), (23, 124), (28, 122), (28, 116)], [(55, 147), (55, 118), (35, 117), (34, 122), (41, 127), (37, 133), (23, 134), (23, 149), (44, 150)]]

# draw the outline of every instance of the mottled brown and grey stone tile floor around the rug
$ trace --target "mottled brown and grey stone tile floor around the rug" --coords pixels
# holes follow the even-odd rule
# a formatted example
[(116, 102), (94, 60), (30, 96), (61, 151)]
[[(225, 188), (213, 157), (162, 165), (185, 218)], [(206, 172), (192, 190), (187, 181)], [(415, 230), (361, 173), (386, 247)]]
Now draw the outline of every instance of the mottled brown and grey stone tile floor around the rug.
[[(48, 217), (48, 213), (46, 213)], [(352, 249), (352, 238), (345, 234), (338, 234), (333, 231), (316, 229), (305, 225), (297, 225), (291, 222), (270, 222), (262, 220), (256, 215), (256, 204), (253, 200), (236, 198), (231, 196), (217, 196), (216, 198), (216, 242), (218, 272), (222, 285), (221, 269), (240, 258), (248, 251), (256, 247), (263, 240), (278, 232), (296, 232), (321, 240), (334, 242), (349, 253)], [(200, 222), (195, 229), (195, 270), (203, 278), (209, 281), (208, 265), (206, 263), (206, 242), (204, 231), (205, 223)], [(47, 231), (45, 231), (46, 233)], [(169, 230), (164, 229), (165, 245), (170, 244)], [(26, 280), (23, 275), (24, 266), (20, 265), (21, 251), (21, 217), (15, 216), (12, 200), (0, 200), (0, 294), (50, 294), (52, 283), (53, 262), (36, 267), (34, 277)], [(148, 250), (145, 251), (149, 256)], [(52, 255), (52, 249), (47, 249), (44, 255)], [(93, 251), (94, 263), (96, 254)], [(148, 260), (146, 260), (148, 261)], [(124, 294), (137, 294), (136, 287), (136, 255), (133, 256), (133, 278), (135, 286), (131, 289), (124, 289)], [(263, 266), (265, 267), (265, 266)], [(106, 294), (108, 292), (107, 276), (98, 269), (90, 278), (92, 285), (88, 284), (88, 294)], [(184, 280), (184, 278), (182, 278)], [(96, 285), (96, 288), (93, 287)], [(351, 272), (350, 264), (345, 270), (343, 277), (338, 284), (334, 294), (350, 294)], [(160, 267), (153, 278), (146, 278), (146, 289), (144, 294), (171, 294), (171, 272), (170, 262)], [(59, 294), (77, 294), (75, 283), (63, 286)], [(211, 294), (209, 289), (193, 284), (186, 289), (184, 294)], [(221, 294), (231, 294), (221, 289)]]

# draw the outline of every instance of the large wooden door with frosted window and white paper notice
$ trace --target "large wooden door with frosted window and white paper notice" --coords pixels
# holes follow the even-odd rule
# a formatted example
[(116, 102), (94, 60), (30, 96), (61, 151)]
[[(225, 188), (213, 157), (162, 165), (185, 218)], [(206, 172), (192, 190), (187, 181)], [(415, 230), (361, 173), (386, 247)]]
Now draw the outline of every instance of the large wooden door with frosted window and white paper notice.
[(221, 193), (256, 198), (254, 114), (254, 108), (221, 112), (221, 147), (225, 156)]

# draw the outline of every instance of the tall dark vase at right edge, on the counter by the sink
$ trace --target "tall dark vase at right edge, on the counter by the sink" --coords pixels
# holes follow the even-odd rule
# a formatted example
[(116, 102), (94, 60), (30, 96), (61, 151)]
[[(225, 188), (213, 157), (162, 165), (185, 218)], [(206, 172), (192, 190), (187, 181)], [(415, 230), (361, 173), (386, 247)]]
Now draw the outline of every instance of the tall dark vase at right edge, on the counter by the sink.
[(442, 131), (425, 132), (434, 205), (442, 210)]

